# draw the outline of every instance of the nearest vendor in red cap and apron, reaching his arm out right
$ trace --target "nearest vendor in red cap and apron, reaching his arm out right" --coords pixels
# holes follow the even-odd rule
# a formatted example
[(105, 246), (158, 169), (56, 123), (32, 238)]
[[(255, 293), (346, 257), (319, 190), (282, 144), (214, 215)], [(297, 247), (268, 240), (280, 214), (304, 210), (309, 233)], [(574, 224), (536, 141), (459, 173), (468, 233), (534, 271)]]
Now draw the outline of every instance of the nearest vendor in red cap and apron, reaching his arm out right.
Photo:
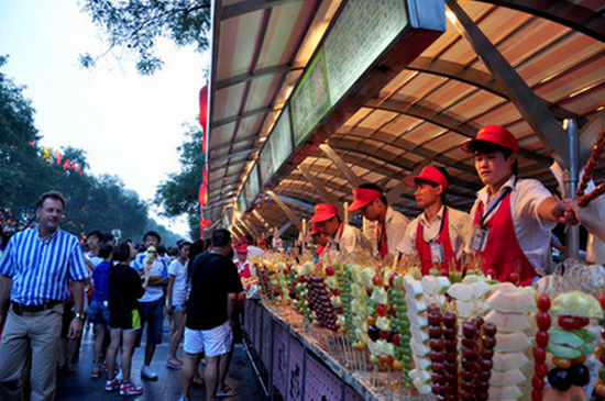
[(517, 179), (519, 145), (505, 127), (485, 125), (461, 147), (473, 154), (485, 185), (471, 210), (466, 245), (495, 279), (531, 285), (551, 265), (550, 231), (557, 223), (578, 224), (569, 202), (535, 179)]

